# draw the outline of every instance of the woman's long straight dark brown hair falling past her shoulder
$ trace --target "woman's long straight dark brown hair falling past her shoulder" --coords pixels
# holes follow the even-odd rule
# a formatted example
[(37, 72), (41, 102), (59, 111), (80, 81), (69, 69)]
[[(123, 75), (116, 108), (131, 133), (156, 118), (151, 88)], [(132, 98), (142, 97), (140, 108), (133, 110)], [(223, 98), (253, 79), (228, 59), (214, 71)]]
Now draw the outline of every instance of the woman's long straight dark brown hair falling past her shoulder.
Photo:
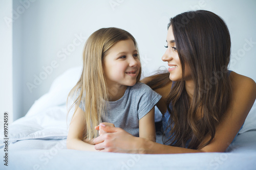
[[(166, 101), (167, 114), (170, 114), (167, 129), (171, 130), (165, 131), (164, 143), (200, 149), (214, 138), (216, 127), (231, 98), (227, 70), (230, 35), (225, 22), (218, 15), (204, 10), (179, 14), (170, 18), (168, 28), (170, 25), (182, 65), (183, 80), (175, 82)], [(191, 102), (185, 90), (185, 63), (189, 65), (195, 82)], [(166, 77), (166, 74), (157, 77), (162, 76)], [(150, 84), (158, 88), (161, 86), (154, 82)], [(207, 135), (210, 139), (202, 143)]]

